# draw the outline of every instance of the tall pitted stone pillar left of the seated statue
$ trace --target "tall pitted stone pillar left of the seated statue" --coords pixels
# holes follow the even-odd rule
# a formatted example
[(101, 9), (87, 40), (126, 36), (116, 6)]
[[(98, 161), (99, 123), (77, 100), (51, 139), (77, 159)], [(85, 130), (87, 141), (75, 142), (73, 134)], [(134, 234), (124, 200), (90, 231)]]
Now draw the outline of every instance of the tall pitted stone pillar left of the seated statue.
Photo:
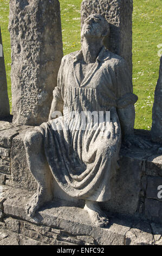
[(13, 123), (48, 120), (63, 57), (58, 0), (11, 0), (11, 86)]

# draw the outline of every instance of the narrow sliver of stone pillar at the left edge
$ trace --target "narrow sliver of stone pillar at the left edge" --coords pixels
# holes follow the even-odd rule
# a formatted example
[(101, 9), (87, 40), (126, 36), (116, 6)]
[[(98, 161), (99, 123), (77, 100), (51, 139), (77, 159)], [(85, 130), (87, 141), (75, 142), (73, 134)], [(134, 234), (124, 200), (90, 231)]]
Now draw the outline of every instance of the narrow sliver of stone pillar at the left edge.
[(0, 118), (10, 114), (9, 98), (7, 92), (7, 77), (5, 72), (2, 36), (0, 27)]

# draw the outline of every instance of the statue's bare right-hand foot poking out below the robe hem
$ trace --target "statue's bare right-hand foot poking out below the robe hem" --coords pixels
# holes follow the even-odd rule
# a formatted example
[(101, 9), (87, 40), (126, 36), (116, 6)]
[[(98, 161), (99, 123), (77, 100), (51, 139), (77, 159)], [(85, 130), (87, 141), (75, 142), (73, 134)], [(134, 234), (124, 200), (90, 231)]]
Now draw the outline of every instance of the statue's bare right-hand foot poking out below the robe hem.
[(96, 227), (103, 228), (108, 225), (109, 220), (97, 202), (87, 200), (84, 209), (88, 212), (90, 220)]

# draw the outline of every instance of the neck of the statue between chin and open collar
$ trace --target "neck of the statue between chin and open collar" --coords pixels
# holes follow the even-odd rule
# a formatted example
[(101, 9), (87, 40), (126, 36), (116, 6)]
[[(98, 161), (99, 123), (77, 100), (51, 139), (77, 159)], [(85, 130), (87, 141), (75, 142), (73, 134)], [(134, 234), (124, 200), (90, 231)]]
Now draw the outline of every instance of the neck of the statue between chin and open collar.
[(102, 39), (82, 39), (82, 53), (85, 62), (88, 63), (95, 63), (96, 58), (98, 57), (101, 48), (103, 46)]

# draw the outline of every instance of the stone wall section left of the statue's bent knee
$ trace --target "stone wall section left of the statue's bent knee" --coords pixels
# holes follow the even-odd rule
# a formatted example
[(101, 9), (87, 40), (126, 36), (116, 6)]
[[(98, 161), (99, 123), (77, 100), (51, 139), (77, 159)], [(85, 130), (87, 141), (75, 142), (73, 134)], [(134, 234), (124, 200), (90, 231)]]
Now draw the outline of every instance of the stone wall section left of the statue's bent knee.
[(14, 126), (12, 123), (0, 121), (0, 184), (21, 186), (27, 190), (36, 189), (23, 145), (23, 136), (31, 129), (31, 126)]

